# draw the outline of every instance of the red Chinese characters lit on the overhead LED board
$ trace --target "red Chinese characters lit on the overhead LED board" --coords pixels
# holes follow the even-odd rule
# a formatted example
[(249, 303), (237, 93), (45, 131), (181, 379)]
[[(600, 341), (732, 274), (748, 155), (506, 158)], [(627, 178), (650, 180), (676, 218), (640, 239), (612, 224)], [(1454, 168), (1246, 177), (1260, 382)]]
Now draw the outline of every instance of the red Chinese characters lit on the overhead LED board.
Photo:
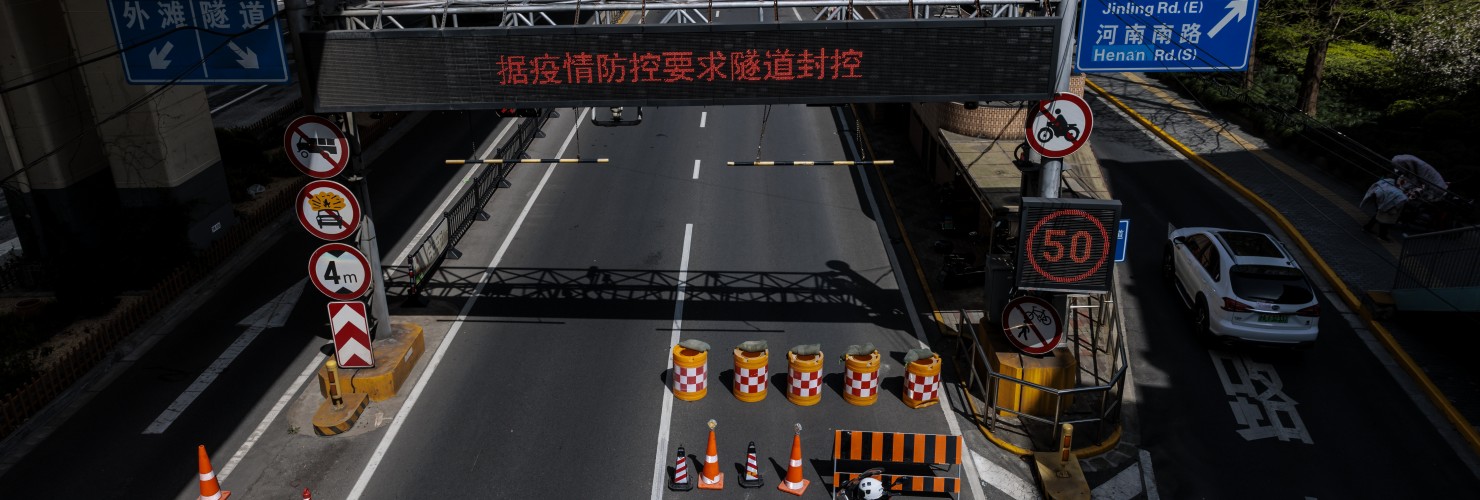
[(863, 78), (863, 50), (502, 55), (499, 84), (793, 81)]

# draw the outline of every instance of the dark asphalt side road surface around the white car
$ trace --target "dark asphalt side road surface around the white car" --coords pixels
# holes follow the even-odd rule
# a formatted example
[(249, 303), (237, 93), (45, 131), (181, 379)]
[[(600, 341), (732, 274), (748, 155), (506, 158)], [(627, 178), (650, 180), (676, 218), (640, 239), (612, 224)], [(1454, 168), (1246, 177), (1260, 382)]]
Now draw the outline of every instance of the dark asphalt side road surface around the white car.
[(1271, 231), (1199, 169), (1100, 99), (1091, 102), (1095, 152), (1123, 217), (1138, 228), (1119, 271), (1141, 448), (1154, 462), (1160, 494), (1393, 499), (1474, 491), (1476, 476), (1329, 294), (1320, 340), (1308, 352), (1215, 346), (1193, 336), (1190, 312), (1160, 278), (1166, 225)]

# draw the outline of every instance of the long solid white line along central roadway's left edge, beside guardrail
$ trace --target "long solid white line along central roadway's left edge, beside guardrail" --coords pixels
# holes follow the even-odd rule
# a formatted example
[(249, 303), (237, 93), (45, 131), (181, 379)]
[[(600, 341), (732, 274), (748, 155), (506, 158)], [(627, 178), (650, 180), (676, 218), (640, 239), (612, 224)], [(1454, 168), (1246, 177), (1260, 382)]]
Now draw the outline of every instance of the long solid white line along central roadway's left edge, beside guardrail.
[[(580, 130), (580, 123), (586, 120), (586, 112), (591, 108), (580, 109), (580, 115), (576, 117), (576, 123), (570, 127), (570, 135), (565, 136), (565, 142), (559, 145), (559, 151), (555, 152), (556, 157), (565, 155), (565, 148), (570, 146), (570, 141), (576, 138), (576, 130)], [(472, 306), (478, 303), (478, 297), (482, 296), (482, 288), (488, 284), (488, 275), (499, 262), (503, 260), (505, 251), (509, 250), (509, 244), (514, 243), (514, 237), (519, 234), (519, 226), (524, 225), (524, 219), (530, 216), (530, 209), (534, 207), (534, 200), (539, 200), (540, 191), (545, 191), (545, 185), (551, 180), (551, 175), (555, 173), (554, 163), (546, 164), (545, 176), (540, 178), (540, 183), (534, 186), (534, 192), (530, 194), (530, 200), (524, 204), (524, 210), (519, 212), (519, 217), (514, 220), (514, 226), (509, 228), (509, 234), (503, 237), (503, 244), (499, 246), (499, 251), (494, 253), (493, 260), (488, 262), (487, 271), (478, 277), (478, 286), (474, 288), (472, 296), (468, 297), (468, 303), (463, 305), (462, 311), (457, 312), (457, 320), (453, 321), (451, 328), (447, 330), (447, 336), (437, 346), (437, 354), (432, 359), (426, 362), (426, 370), (422, 373), (420, 379), (416, 380), (416, 386), (411, 388), (411, 393), (406, 396), (406, 405), (401, 411), (395, 413), (395, 419), (391, 420), (391, 426), (386, 429), (385, 436), (380, 438), (380, 444), (376, 445), (374, 453), (370, 454), (370, 462), (366, 463), (366, 469), (360, 472), (360, 479), (355, 479), (354, 490), (349, 491), (348, 500), (357, 500), (364, 494), (366, 487), (370, 485), (370, 478), (374, 478), (376, 469), (380, 467), (380, 460), (385, 460), (385, 453), (391, 450), (391, 442), (395, 442), (395, 436), (401, 433), (401, 426), (406, 425), (407, 416), (411, 414), (411, 408), (416, 407), (416, 401), (422, 398), (422, 391), (426, 391), (426, 383), (432, 380), (432, 374), (437, 371), (437, 365), (443, 362), (447, 357), (447, 349), (457, 340), (457, 331), (462, 330), (463, 321), (468, 320), (468, 314)]]

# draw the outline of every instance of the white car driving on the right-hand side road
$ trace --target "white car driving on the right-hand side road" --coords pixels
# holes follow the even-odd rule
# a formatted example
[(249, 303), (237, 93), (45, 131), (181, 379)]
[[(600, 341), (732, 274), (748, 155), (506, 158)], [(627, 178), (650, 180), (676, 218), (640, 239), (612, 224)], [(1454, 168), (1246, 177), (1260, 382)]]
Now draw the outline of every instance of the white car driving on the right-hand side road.
[(1294, 346), (1316, 342), (1314, 287), (1268, 234), (1169, 228), (1162, 274), (1191, 308), (1199, 334)]

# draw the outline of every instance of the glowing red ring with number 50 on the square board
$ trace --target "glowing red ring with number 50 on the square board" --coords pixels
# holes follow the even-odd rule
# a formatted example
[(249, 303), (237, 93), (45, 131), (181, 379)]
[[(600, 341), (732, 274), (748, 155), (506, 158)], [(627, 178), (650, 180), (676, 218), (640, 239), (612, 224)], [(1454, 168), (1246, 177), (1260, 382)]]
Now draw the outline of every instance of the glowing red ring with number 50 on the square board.
[[(1098, 231), (1077, 229), (1074, 234), (1069, 234), (1069, 229), (1043, 229), (1045, 225), (1058, 217), (1083, 217)], [(1037, 275), (1048, 281), (1076, 283), (1092, 277), (1095, 271), (1100, 271), (1106, 265), (1106, 260), (1110, 259), (1111, 243), (1113, 240), (1110, 240), (1106, 226), (1088, 212), (1077, 209), (1057, 210), (1039, 219), (1033, 225), (1033, 231), (1027, 234), (1027, 262), (1033, 265), (1033, 271)], [(1042, 250), (1042, 254), (1035, 249)], [(1089, 271), (1073, 277), (1060, 277), (1045, 269), (1045, 266), (1063, 265), (1061, 262), (1066, 259), (1074, 265), (1082, 265), (1089, 262), (1089, 259), (1095, 259), (1095, 263), (1089, 266)]]

